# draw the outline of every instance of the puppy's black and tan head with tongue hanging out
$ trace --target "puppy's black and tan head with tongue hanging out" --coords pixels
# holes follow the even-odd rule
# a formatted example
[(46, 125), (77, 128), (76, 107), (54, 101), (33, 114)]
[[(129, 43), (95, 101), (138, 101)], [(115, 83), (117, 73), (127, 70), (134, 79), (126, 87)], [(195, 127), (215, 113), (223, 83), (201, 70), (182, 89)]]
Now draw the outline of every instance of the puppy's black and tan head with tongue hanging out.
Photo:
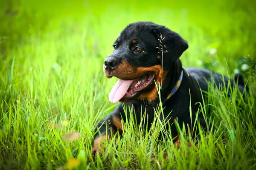
[(188, 48), (179, 34), (151, 22), (131, 23), (113, 43), (105, 59), (106, 77), (117, 77), (109, 100), (113, 103), (157, 98), (154, 80), (160, 85), (172, 64)]

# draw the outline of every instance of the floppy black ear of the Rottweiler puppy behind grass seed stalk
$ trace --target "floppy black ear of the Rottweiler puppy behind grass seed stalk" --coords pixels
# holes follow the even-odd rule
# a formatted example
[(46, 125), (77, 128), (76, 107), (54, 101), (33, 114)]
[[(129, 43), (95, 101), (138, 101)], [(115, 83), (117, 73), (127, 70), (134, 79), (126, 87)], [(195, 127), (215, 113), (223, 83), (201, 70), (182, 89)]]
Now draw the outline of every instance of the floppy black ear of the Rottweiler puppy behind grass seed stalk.
[(186, 40), (174, 31), (162, 26), (154, 29), (153, 34), (158, 39), (159, 56), (164, 70), (169, 70), (181, 54), (189, 48)]

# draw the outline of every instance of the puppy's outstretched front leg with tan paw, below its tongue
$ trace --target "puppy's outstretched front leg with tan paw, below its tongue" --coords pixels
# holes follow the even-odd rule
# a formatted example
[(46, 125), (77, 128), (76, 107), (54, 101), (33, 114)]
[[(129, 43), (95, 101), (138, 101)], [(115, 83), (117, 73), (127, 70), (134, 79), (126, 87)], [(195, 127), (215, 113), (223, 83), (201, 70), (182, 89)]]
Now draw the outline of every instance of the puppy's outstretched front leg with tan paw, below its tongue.
[(102, 140), (110, 140), (116, 132), (122, 133), (121, 117), (125, 118), (122, 104), (120, 104), (110, 115), (103, 119), (96, 127), (97, 133), (94, 136), (93, 155), (100, 153)]

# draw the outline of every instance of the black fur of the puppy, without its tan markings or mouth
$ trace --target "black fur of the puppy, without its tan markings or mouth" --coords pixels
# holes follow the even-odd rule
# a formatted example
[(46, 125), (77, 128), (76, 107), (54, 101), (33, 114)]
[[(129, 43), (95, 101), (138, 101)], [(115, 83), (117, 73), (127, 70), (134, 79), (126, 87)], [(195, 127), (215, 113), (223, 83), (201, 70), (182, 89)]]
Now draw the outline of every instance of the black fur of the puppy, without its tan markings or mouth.
[[(156, 47), (160, 46), (160, 34), (162, 34), (163, 45), (166, 45), (164, 51), (168, 52), (164, 53), (164, 56), (161, 54), (161, 49)], [(138, 22), (131, 23), (128, 25), (119, 35), (119, 42), (115, 41), (114, 45), (116, 45), (116, 50), (107, 58), (113, 59), (115, 62), (113, 65), (117, 66), (120, 61), (126, 60), (131, 65), (135, 67), (150, 67), (153, 65), (163, 65), (163, 69), (168, 71), (167, 76), (162, 85), (162, 102), (164, 109), (164, 116), (168, 116), (170, 112), (172, 112), (167, 119), (170, 121), (170, 125), (174, 122), (174, 119), (178, 119), (180, 125), (184, 122), (185, 125), (189, 125), (191, 127), (191, 122), (195, 122), (195, 113), (198, 111), (199, 105), (197, 102), (202, 103), (201, 91), (208, 91), (208, 84), (205, 81), (211, 80), (211, 76), (213, 77), (217, 86), (226, 84), (229, 79), (227, 77), (224, 78), (224, 82), (222, 81), (222, 75), (211, 73), (209, 70), (202, 68), (188, 68), (184, 69), (181, 65), (181, 61), (179, 59), (180, 55), (188, 48), (188, 44), (186, 40), (183, 40), (179, 34), (174, 31), (169, 30), (165, 26), (160, 26), (151, 22)], [(131, 43), (131, 40), (136, 39), (138, 43), (136, 45)], [(134, 52), (135, 46), (139, 46), (143, 49), (144, 53), (136, 53)], [(157, 56), (160, 55), (160, 59)], [(162, 62), (163, 61), (163, 62)], [(115, 67), (113, 67), (114, 69)], [(125, 69), (125, 68), (124, 68)], [(180, 73), (183, 70), (183, 79), (181, 85), (177, 92), (171, 96), (171, 98), (167, 99), (167, 96), (170, 94), (172, 89), (174, 88), (177, 80), (180, 77)], [(188, 73), (188, 74), (187, 74)], [(238, 76), (237, 76), (238, 77)], [(237, 78), (236, 77), (236, 78)], [(198, 85), (198, 82), (200, 87)], [(236, 85), (236, 83), (231, 79), (231, 85)], [(244, 80), (242, 77), (239, 77), (238, 81), (239, 90), (241, 93), (244, 92)], [(189, 94), (190, 91), (190, 94)], [(191, 96), (191, 100), (190, 100)], [(134, 117), (137, 120), (137, 123), (141, 122), (140, 113), (148, 113), (148, 129), (151, 127), (151, 123), (154, 119), (154, 107), (159, 104), (159, 98), (155, 99), (153, 102), (148, 102), (147, 100), (136, 99), (132, 102), (125, 103), (126, 106), (132, 107), (135, 110)], [(191, 103), (192, 110), (192, 121), (189, 113), (189, 103)], [(127, 107), (128, 108), (128, 107)], [(118, 117), (124, 119), (126, 122), (126, 117), (129, 119), (129, 115), (125, 115), (122, 104), (119, 103), (118, 107), (105, 118), (103, 121), (99, 123), (97, 126), (98, 133), (96, 133), (95, 138), (99, 137), (99, 133), (105, 134), (107, 129), (106, 126), (103, 125), (103, 122), (107, 123), (108, 127), (112, 127), (115, 131), (117, 128), (112, 123), (113, 118)], [(163, 119), (163, 117), (161, 117)], [(199, 115), (198, 119), (200, 119), (200, 123), (203, 127), (206, 127), (206, 122), (204, 121), (203, 116)], [(177, 134), (177, 130), (175, 125), (171, 127), (172, 134)], [(108, 134), (110, 134), (110, 128), (108, 128)], [(121, 132), (122, 133), (122, 132)]]

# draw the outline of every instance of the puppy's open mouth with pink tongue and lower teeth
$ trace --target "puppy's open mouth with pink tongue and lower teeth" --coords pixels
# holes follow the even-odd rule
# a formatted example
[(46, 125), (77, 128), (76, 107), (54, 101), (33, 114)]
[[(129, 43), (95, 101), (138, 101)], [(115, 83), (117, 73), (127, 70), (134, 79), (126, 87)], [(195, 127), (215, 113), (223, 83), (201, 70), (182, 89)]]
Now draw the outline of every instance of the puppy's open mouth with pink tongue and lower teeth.
[(153, 88), (154, 77), (154, 72), (150, 72), (133, 80), (118, 79), (108, 95), (109, 101), (116, 103), (137, 99), (140, 94)]

